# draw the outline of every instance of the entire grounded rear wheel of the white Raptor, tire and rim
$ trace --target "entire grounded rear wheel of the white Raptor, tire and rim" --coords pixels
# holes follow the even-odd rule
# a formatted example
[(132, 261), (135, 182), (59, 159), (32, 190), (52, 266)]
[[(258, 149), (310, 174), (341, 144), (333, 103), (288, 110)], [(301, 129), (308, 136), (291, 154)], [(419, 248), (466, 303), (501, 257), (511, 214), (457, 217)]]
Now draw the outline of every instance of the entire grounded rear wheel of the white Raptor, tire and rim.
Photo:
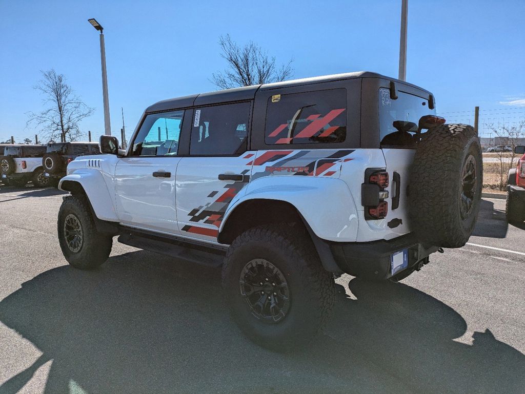
[(328, 323), (333, 275), (325, 271), (306, 231), (261, 226), (239, 235), (223, 266), (232, 317), (260, 346), (286, 352)]

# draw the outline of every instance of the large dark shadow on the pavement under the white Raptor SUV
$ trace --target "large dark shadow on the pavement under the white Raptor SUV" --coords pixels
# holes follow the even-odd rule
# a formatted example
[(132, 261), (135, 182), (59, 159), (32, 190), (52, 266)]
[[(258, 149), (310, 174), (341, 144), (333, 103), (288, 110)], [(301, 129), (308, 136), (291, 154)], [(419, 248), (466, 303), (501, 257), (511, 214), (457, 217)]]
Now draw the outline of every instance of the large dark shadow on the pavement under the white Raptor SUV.
[(55, 268), (0, 302), (0, 321), (43, 352), (0, 393), (17, 392), (48, 360), (46, 393), (522, 392), (525, 356), (488, 329), (458, 343), (465, 320), (434, 297), (344, 284), (351, 292), (337, 285), (324, 335), (282, 355), (230, 321), (220, 269), (146, 251), (95, 271)]

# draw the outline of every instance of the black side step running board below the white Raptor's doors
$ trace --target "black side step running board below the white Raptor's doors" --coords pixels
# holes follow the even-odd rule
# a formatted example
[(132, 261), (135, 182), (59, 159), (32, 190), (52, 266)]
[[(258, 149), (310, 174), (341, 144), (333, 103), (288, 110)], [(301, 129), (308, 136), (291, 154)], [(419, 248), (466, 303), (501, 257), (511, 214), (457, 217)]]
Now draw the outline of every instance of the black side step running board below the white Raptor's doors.
[(194, 249), (183, 246), (182, 244), (161, 239), (141, 237), (134, 234), (122, 234), (118, 238), (118, 241), (135, 248), (166, 254), (176, 259), (208, 265), (209, 267), (220, 267), (220, 265), (223, 264), (224, 256), (226, 254), (216, 250), (208, 251), (205, 249)]

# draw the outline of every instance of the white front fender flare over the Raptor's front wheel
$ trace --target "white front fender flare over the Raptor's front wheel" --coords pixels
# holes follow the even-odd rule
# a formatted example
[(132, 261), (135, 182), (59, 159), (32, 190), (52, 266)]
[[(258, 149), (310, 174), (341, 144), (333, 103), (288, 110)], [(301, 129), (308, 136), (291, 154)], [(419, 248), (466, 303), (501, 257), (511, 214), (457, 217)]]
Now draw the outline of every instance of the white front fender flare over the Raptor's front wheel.
[(113, 198), (100, 171), (89, 168), (78, 169), (60, 179), (58, 188), (74, 192), (77, 185), (80, 185), (86, 193), (97, 218), (106, 221), (119, 221)]

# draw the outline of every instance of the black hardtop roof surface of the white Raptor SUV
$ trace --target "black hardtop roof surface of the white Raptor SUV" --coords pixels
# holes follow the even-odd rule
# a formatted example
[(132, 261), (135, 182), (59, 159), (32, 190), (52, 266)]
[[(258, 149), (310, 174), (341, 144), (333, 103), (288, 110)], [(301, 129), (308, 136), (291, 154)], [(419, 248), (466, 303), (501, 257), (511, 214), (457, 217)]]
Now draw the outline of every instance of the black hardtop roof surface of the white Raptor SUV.
[(269, 89), (285, 88), (285, 87), (291, 87), (291, 86), (300, 86), (300, 85), (306, 85), (306, 84), (311, 84), (311, 83), (341, 81), (345, 79), (354, 79), (354, 78), (388, 79), (394, 82), (399, 82), (402, 84), (406, 84), (408, 86), (412, 86), (416, 89), (420, 89), (428, 94), (431, 94), (428, 90), (422, 89), (412, 83), (400, 81), (398, 79), (391, 78), (391, 77), (385, 77), (376, 72), (356, 71), (356, 72), (345, 72), (342, 74), (325, 75), (325, 76), (320, 76), (320, 77), (292, 79), (290, 81), (245, 86), (245, 87), (235, 88), (235, 89), (217, 90), (217, 91), (208, 92), (208, 93), (192, 94), (192, 95), (188, 95), (184, 97), (177, 97), (174, 99), (167, 99), (167, 100), (156, 102), (155, 104), (150, 105), (150, 107), (146, 108), (145, 112), (151, 113), (151, 112), (167, 111), (167, 110), (176, 109), (176, 108), (193, 107), (194, 105), (211, 105), (211, 104), (230, 102), (230, 101), (253, 100), (255, 97), (255, 92), (257, 92), (257, 90), (259, 89), (269, 90)]

